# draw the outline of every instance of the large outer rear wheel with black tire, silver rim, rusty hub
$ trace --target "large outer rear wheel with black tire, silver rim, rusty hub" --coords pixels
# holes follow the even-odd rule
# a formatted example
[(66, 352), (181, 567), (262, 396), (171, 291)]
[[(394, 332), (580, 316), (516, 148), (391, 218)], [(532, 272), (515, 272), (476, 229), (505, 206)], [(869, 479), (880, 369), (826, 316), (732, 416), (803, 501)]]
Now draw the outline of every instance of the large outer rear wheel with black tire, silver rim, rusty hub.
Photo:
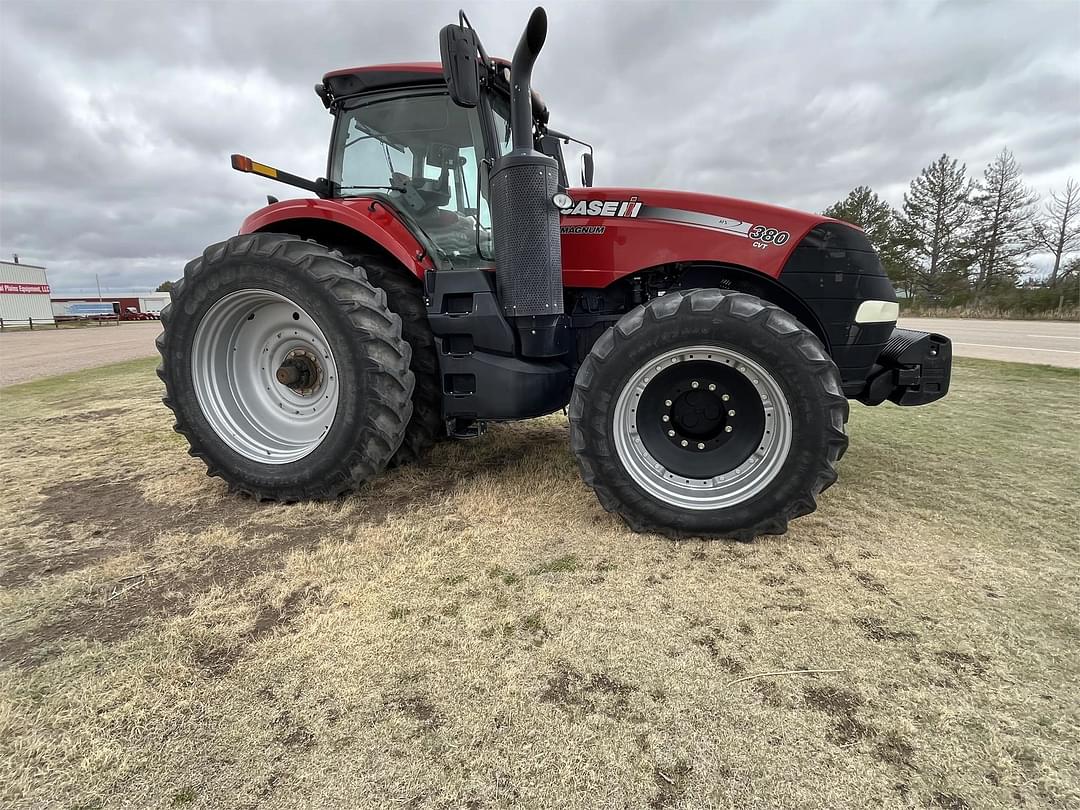
[(171, 296), (163, 402), (208, 475), (297, 501), (335, 498), (386, 468), (413, 410), (410, 352), (362, 269), (313, 242), (254, 233), (207, 247)]

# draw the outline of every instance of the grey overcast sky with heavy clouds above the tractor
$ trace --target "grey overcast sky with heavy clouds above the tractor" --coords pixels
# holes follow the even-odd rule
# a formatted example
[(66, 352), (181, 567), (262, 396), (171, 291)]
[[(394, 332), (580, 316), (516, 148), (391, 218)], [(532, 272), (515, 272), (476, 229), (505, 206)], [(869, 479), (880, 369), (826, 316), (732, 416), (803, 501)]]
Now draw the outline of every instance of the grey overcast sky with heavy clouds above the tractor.
[[(468, 2), (509, 56), (530, 4)], [(56, 289), (153, 287), (325, 172), (329, 69), (435, 60), (459, 2), (0, 0), (0, 255)], [(942, 151), (1080, 177), (1080, 1), (548, 2), (535, 85), (597, 185), (893, 204)], [(302, 195), (302, 192), (299, 192)]]

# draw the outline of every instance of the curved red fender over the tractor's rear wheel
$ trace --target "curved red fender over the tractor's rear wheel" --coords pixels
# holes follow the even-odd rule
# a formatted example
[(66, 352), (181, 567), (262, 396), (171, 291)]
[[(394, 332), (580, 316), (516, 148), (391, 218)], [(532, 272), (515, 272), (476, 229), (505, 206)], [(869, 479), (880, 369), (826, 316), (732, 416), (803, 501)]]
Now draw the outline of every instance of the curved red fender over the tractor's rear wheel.
[(314, 239), (328, 247), (374, 244), (418, 279), (434, 267), (416, 237), (381, 201), (285, 200), (248, 216), (240, 233), (275, 231)]

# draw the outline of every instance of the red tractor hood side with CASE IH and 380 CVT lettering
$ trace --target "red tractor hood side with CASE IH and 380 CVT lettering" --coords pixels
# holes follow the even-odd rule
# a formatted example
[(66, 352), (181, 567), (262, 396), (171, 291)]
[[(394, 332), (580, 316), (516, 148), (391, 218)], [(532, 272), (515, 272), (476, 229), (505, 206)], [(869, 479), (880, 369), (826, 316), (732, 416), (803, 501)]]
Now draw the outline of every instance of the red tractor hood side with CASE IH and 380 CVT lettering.
[[(820, 214), (688, 191), (572, 188), (556, 194), (568, 284), (597, 283), (595, 273), (673, 262), (739, 265), (778, 276)], [(841, 226), (843, 246), (872, 249), (862, 231)], [(592, 276), (592, 278), (590, 278)]]

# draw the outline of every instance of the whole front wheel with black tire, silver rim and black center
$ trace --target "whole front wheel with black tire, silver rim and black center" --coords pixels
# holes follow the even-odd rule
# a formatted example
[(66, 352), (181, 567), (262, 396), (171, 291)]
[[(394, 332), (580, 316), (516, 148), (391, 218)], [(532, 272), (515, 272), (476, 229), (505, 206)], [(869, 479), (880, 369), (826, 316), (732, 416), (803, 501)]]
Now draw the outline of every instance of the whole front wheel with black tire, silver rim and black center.
[(578, 370), (569, 419), (600, 504), (674, 538), (784, 534), (816, 509), (848, 444), (848, 401), (818, 338), (719, 289), (623, 315)]

